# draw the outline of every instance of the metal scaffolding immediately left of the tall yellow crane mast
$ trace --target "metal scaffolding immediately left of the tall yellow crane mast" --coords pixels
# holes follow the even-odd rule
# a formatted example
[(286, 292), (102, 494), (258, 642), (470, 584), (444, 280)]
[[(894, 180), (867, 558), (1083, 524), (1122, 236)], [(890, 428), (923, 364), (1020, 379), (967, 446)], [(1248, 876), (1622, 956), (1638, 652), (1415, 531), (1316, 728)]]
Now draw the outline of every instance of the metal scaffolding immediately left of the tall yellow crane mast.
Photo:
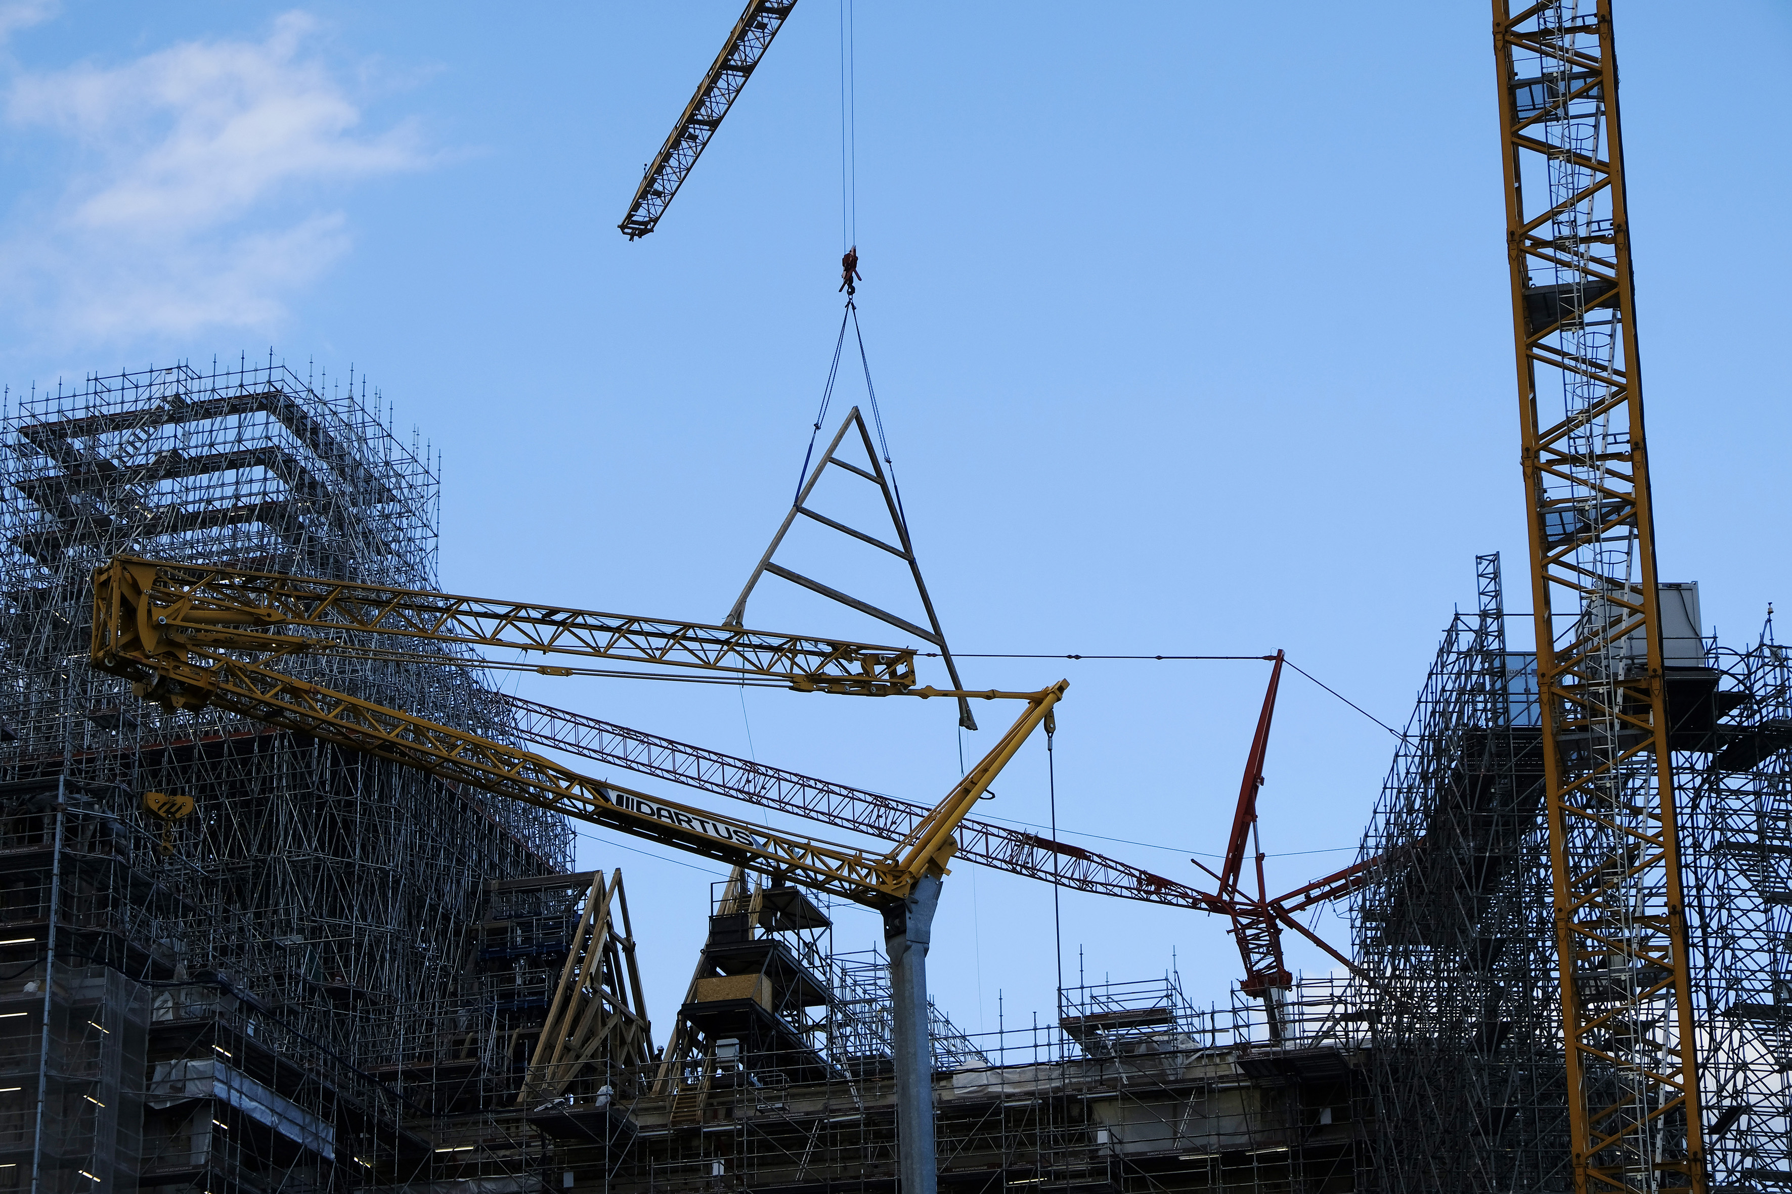
[(1444, 630), (1364, 834), (1353, 1019), (1371, 1042), (1374, 1189), (1555, 1190), (1566, 1103), (1536, 657), (1505, 643), (1500, 557)]

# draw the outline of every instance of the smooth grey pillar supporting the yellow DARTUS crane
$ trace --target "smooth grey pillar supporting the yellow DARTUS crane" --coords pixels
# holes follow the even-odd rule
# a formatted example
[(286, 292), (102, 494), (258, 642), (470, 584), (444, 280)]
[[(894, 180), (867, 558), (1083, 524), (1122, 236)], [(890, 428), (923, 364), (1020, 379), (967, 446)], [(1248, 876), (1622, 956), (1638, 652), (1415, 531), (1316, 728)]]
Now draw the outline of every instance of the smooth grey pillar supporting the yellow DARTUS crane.
[(896, 1054), (896, 1155), (900, 1194), (935, 1194), (934, 1044), (926, 1031), (926, 943), (939, 906), (939, 877), (914, 884), (907, 900), (883, 913), (891, 956), (891, 1051)]

